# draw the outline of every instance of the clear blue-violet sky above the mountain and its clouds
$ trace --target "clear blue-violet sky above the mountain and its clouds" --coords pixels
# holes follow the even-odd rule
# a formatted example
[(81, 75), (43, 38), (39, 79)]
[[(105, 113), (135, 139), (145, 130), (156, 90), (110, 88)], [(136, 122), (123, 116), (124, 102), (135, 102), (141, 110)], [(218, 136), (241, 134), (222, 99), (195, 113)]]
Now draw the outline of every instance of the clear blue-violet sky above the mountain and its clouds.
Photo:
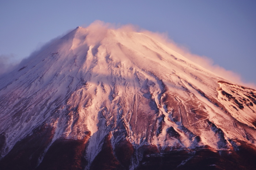
[(28, 57), (56, 36), (102, 20), (167, 32), (191, 53), (256, 84), (255, 8), (255, 0), (0, 0), (0, 62)]

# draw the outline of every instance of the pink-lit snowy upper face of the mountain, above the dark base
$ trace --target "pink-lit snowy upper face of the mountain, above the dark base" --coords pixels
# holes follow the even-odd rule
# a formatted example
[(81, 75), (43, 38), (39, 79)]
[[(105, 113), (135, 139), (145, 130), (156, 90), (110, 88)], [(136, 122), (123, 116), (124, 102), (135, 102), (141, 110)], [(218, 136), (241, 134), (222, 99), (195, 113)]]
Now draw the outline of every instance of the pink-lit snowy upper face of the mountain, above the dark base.
[(78, 27), (0, 80), (1, 155), (43, 124), (54, 129), (49, 146), (90, 134), (87, 167), (106, 136), (113, 150), (124, 139), (132, 144), (130, 168), (143, 145), (255, 144), (255, 95), (145, 34)]

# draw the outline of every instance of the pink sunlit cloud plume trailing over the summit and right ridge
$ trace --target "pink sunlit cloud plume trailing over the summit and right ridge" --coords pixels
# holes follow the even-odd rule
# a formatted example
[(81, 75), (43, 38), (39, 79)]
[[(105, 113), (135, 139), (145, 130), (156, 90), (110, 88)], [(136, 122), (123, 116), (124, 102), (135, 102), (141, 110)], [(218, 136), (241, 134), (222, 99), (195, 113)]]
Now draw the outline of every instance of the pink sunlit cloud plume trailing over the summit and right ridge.
[(102, 37), (104, 37), (108, 29), (114, 29), (116, 31), (124, 31), (124, 32), (142, 32), (150, 36), (151, 38), (154, 38), (155, 40), (159, 41), (163, 45), (169, 47), (170, 49), (176, 51), (177, 53), (183, 55), (184, 57), (188, 58), (194, 63), (204, 67), (205, 69), (210, 70), (211, 72), (218, 74), (219, 76), (226, 78), (227, 80), (230, 80), (232, 82), (256, 89), (255, 84), (242, 81), (240, 74), (234, 73), (231, 70), (226, 70), (225, 68), (219, 66), (218, 64), (214, 64), (214, 61), (211, 58), (192, 54), (187, 48), (180, 46), (177, 43), (175, 43), (173, 40), (169, 39), (167, 33), (151, 32), (151, 31), (139, 28), (138, 26), (135, 26), (132, 24), (127, 24), (127, 25), (110, 24), (110, 23), (104, 23), (99, 20), (93, 22), (86, 28), (89, 31), (95, 33), (93, 34), (94, 36), (89, 37), (90, 41), (94, 40), (93, 42), (99, 42), (102, 39)]

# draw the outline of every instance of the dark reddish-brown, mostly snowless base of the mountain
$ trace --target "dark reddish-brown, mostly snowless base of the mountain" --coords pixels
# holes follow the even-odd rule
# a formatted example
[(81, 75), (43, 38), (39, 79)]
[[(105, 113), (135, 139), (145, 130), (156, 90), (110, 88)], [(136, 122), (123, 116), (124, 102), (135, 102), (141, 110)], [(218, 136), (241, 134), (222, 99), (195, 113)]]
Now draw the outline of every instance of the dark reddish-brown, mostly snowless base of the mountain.
[[(38, 165), (40, 154), (45, 149), (41, 138), (25, 138), (0, 161), (0, 168), (6, 170), (70, 170), (85, 169), (88, 160), (83, 153), (86, 151), (84, 140), (56, 140), (45, 153), (42, 162)], [(88, 139), (87, 139), (88, 140)], [(26, 141), (26, 142), (25, 142)], [(35, 144), (34, 142), (37, 142)], [(44, 141), (45, 142), (45, 141)], [(138, 166), (134, 169), (255, 169), (256, 150), (247, 143), (236, 146), (236, 150), (215, 151), (211, 148), (195, 148), (183, 150), (158, 150), (157, 146), (143, 145), (137, 148), (141, 155)], [(127, 140), (120, 141), (116, 149), (106, 136), (101, 151), (95, 157), (89, 169), (133, 169), (132, 157), (135, 157), (135, 148)]]

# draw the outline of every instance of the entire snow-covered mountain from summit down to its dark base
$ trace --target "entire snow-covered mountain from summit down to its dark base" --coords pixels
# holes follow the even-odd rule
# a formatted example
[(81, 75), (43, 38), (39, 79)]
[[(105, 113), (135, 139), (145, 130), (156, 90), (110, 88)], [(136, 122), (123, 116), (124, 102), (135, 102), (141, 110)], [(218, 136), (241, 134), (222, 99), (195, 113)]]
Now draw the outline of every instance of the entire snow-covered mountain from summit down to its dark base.
[(0, 79), (0, 169), (252, 169), (255, 105), (146, 34), (77, 27)]

